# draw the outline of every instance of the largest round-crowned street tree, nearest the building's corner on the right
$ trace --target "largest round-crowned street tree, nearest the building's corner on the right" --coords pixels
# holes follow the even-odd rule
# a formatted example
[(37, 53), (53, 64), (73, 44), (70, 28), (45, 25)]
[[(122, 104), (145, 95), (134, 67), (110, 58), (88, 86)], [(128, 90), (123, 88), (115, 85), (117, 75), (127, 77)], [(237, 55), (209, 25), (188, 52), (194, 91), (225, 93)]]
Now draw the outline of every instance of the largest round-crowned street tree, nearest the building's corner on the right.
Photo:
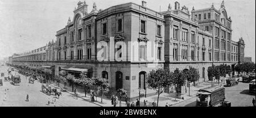
[[(157, 69), (152, 70), (147, 75), (147, 87), (153, 90), (156, 90), (158, 93), (158, 102), (159, 102), (159, 95), (163, 93), (164, 88), (171, 86), (171, 82), (168, 81), (168, 79), (171, 79), (169, 77), (170, 70), (168, 69)], [(156, 106), (158, 106), (158, 102), (156, 103)]]

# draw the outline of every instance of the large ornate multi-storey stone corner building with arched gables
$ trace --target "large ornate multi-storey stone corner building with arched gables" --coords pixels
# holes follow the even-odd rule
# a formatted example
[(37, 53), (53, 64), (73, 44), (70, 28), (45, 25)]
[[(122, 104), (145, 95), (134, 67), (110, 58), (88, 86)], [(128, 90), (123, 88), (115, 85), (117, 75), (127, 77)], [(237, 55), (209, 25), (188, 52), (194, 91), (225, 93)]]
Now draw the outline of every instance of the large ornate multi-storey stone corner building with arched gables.
[(153, 69), (193, 66), (202, 82), (208, 80), (207, 69), (213, 64), (233, 67), (243, 62), (245, 44), (242, 38), (232, 41), (232, 20), (224, 2), (219, 10), (212, 5), (193, 8), (191, 14), (179, 2), (173, 10), (169, 5), (167, 11), (157, 12), (144, 1), (105, 10), (94, 3), (90, 12), (85, 2), (79, 2), (73, 12), (73, 19), (57, 31), (55, 42), (43, 47), (42, 53), (14, 56), (14, 64), (53, 67), (55, 75), (66, 70), (78, 77), (87, 71), (89, 77), (107, 79), (113, 90), (125, 88), (127, 96), (135, 99), (139, 91), (155, 94), (145, 82)]

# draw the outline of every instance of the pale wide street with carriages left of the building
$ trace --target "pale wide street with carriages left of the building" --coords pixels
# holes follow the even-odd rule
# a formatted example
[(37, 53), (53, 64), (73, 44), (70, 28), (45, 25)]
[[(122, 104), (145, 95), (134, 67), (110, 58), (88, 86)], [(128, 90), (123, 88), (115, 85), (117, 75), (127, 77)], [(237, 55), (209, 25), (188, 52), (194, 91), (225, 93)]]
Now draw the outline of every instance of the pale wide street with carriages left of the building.
[[(0, 67), (0, 72), (4, 72), (7, 75), (7, 67)], [(15, 72), (18, 74), (17, 72)], [(13, 86), (10, 82), (3, 82), (3, 86), (0, 86), (0, 106), (16, 106), (16, 107), (52, 107), (53, 104), (47, 105), (48, 98), (52, 99), (53, 95), (49, 96), (41, 92), (41, 83), (35, 81), (34, 84), (28, 83), (28, 79), (23, 75), (20, 75), (21, 83), (20, 86)], [(0, 77), (4, 79), (4, 77)], [(5, 89), (7, 101), (3, 101)], [(26, 102), (26, 95), (29, 95), (29, 102)], [(98, 106), (92, 102), (88, 102), (81, 98), (76, 98), (75, 96), (63, 92), (63, 95), (60, 96), (60, 99), (56, 100), (56, 107), (93, 107)]]

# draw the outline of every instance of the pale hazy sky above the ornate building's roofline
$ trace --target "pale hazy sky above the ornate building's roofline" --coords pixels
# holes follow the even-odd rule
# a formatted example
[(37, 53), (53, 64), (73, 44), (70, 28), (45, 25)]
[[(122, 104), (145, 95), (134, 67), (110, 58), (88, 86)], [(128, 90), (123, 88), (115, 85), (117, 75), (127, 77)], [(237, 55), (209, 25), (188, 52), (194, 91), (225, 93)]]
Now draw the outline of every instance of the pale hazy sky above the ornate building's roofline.
[[(147, 7), (155, 11), (167, 11), (169, 3), (174, 9), (175, 0), (145, 0)], [(67, 25), (68, 18), (73, 19), (73, 10), (79, 0), (0, 0), (0, 60), (13, 53), (45, 46), (48, 41), (56, 40), (56, 31)], [(81, 1), (83, 2), (83, 1)], [(97, 9), (107, 9), (114, 5), (139, 0), (86, 0), (88, 12), (93, 2)], [(212, 5), (220, 9), (222, 0), (177, 0), (180, 6), (197, 9)], [(245, 57), (255, 62), (255, 1), (225, 0), (228, 17), (232, 19), (232, 40), (245, 41)]]

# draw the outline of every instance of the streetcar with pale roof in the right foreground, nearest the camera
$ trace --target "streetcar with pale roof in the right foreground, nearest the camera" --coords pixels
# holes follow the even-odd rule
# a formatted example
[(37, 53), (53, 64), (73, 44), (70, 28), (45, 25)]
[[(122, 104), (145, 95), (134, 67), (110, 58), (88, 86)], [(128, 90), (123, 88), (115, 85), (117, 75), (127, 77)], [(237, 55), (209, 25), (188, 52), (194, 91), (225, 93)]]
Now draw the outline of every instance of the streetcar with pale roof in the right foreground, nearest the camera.
[(213, 86), (200, 89), (197, 93), (197, 107), (214, 107), (218, 104), (225, 104), (225, 88), (223, 86)]

